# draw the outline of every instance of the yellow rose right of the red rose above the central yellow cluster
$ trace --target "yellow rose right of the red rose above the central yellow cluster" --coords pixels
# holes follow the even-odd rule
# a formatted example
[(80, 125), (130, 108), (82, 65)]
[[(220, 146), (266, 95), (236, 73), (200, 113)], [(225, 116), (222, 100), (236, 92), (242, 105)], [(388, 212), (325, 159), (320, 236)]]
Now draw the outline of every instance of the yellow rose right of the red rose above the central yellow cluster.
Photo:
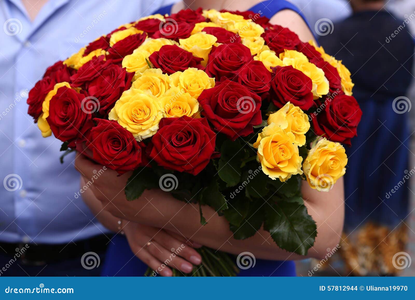
[(192, 34), (187, 39), (179, 39), (180, 46), (186, 51), (192, 52), (195, 56), (203, 58), (204, 66), (206, 65), (207, 56), (216, 43), (217, 38), (212, 34), (199, 32)]

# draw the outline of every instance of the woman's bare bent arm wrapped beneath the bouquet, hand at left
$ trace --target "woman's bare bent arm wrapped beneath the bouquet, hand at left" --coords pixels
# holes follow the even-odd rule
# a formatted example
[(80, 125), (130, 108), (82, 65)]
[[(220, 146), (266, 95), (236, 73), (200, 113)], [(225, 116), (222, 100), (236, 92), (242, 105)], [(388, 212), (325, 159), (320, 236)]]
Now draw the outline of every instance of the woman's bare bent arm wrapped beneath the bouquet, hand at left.
[[(76, 168), (86, 178), (93, 171), (102, 168), (82, 155), (77, 155)], [(103, 204), (105, 210), (113, 215), (152, 227), (177, 232), (199, 244), (220, 249), (233, 254), (249, 251), (260, 259), (284, 260), (303, 259), (280, 249), (271, 239), (269, 232), (261, 229), (253, 237), (236, 240), (229, 230), (229, 223), (219, 217), (211, 207), (203, 206), (203, 215), (208, 224), (200, 224), (197, 205), (187, 204), (173, 198), (162, 190), (146, 190), (142, 197), (127, 201), (124, 187), (131, 173), (117, 176), (112, 170), (106, 170), (90, 187), (94, 197)], [(343, 182), (338, 180), (330, 192), (317, 192), (307, 183), (302, 187), (308, 213), (317, 223), (315, 245), (309, 250), (308, 257), (322, 258), (327, 249), (335, 247), (340, 239), (344, 217)], [(267, 205), (264, 200), (264, 205)], [(267, 207), (272, 209), (271, 207)]]

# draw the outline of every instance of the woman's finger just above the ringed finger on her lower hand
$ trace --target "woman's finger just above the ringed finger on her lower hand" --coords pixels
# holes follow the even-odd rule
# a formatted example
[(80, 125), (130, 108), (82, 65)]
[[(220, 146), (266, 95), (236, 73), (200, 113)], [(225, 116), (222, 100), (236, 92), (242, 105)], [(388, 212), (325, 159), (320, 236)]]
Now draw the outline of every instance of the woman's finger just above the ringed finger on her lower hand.
[(185, 242), (177, 239), (175, 236), (171, 235), (171, 232), (165, 232), (162, 230), (155, 236), (154, 240), (158, 241), (166, 249), (170, 249), (171, 252), (183, 257), (196, 266), (202, 262), (202, 257), (195, 249), (192, 248), (192, 246), (189, 246)]

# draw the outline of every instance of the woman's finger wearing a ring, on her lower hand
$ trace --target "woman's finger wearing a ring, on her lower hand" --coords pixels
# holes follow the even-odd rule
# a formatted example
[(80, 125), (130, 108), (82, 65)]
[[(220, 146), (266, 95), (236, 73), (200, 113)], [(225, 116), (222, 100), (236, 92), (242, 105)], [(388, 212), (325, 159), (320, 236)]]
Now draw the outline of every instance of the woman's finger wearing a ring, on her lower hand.
[(179, 257), (176, 253), (172, 253), (170, 249), (167, 250), (155, 240), (149, 241), (145, 248), (156, 259), (163, 261), (164, 265), (168, 265), (184, 273), (190, 273), (193, 270), (191, 263)]

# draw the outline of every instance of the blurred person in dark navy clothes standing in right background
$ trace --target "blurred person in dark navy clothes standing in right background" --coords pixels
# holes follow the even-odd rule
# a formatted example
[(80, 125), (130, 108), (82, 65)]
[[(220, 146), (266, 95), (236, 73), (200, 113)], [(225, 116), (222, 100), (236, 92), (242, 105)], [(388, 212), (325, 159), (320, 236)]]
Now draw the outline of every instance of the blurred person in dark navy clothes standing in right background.
[(364, 116), (358, 137), (346, 149), (349, 172), (340, 253), (347, 273), (396, 275), (395, 254), (405, 251), (407, 240), (408, 182), (415, 173), (409, 166), (406, 97), (413, 79), (414, 39), (404, 21), (385, 9), (386, 1), (350, 3), (353, 15), (319, 39), (327, 53), (348, 66)]

